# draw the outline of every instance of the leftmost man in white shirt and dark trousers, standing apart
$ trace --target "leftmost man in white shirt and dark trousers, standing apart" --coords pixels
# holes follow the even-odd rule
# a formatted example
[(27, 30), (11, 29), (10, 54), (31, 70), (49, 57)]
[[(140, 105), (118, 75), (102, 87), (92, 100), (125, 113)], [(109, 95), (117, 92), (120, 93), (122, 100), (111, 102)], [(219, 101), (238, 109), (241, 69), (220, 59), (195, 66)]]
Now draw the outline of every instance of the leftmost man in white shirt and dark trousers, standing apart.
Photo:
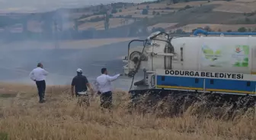
[(46, 90), (46, 76), (48, 72), (43, 69), (43, 64), (38, 63), (37, 68), (30, 72), (30, 79), (32, 79), (37, 84), (37, 90), (39, 95), (39, 102), (44, 103), (44, 94)]

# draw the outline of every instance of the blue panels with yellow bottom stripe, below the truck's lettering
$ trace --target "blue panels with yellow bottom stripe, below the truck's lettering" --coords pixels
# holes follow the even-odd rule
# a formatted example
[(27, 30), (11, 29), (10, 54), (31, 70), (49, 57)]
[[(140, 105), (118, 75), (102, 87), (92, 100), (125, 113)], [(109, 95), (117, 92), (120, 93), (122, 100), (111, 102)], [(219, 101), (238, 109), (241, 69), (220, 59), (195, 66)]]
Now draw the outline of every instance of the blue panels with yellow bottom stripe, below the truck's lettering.
[(233, 79), (191, 78), (181, 76), (157, 76), (156, 79), (157, 89), (187, 89), (203, 91), (203, 87), (207, 92), (255, 94), (256, 82)]

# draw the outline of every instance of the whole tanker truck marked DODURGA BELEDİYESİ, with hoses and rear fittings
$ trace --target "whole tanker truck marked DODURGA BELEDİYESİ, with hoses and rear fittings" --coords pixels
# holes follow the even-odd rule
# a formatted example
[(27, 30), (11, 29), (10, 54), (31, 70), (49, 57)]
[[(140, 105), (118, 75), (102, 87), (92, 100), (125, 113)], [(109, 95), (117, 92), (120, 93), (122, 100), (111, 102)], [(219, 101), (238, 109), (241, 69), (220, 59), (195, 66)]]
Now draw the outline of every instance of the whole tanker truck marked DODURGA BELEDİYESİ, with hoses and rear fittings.
[[(197, 34), (204, 36), (197, 36)], [(152, 33), (145, 40), (132, 40), (123, 59), (126, 76), (144, 78), (132, 83), (133, 101), (150, 93), (158, 97), (207, 97), (218, 104), (255, 104), (256, 33), (215, 33), (196, 30), (194, 36), (171, 37)], [(142, 46), (130, 48), (132, 42)], [(246, 101), (246, 103), (245, 103)]]

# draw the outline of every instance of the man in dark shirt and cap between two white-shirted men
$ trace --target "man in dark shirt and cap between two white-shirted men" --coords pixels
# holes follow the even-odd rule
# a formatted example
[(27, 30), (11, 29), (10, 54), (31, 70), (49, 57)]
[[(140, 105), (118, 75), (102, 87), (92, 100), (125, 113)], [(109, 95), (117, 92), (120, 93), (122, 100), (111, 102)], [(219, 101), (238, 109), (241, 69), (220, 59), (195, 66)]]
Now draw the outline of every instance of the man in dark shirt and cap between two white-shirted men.
[[(78, 68), (76, 70), (77, 76), (75, 76), (72, 79), (71, 84), (71, 93), (72, 96), (78, 97), (78, 104), (82, 105), (83, 102), (87, 106), (89, 106), (89, 99), (88, 99), (88, 88), (91, 90), (91, 93), (93, 93), (93, 89), (91, 88), (91, 84), (88, 82), (88, 79), (86, 76), (82, 75), (82, 69)], [(74, 93), (74, 86), (75, 86), (75, 93)]]

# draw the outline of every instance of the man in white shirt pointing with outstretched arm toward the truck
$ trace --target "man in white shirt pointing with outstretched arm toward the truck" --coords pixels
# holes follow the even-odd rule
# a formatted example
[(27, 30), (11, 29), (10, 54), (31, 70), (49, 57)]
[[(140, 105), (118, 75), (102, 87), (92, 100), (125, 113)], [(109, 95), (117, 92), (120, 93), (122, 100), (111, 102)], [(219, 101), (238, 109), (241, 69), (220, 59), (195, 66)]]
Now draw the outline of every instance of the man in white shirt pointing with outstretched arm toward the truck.
[(109, 108), (112, 106), (112, 86), (111, 82), (116, 80), (121, 74), (115, 76), (107, 75), (107, 68), (101, 69), (101, 76), (96, 79), (96, 87), (98, 88), (98, 94), (101, 94), (101, 107)]

